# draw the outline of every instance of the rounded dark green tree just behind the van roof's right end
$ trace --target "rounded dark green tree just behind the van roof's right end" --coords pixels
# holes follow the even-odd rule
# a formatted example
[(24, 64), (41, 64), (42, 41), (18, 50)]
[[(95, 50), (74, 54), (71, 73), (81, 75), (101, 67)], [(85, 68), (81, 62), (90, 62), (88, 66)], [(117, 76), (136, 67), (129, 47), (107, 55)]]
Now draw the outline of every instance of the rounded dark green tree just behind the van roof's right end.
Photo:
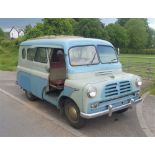
[(113, 43), (115, 47), (125, 48), (128, 46), (128, 34), (124, 27), (119, 24), (109, 24), (105, 27), (108, 33), (109, 41)]

